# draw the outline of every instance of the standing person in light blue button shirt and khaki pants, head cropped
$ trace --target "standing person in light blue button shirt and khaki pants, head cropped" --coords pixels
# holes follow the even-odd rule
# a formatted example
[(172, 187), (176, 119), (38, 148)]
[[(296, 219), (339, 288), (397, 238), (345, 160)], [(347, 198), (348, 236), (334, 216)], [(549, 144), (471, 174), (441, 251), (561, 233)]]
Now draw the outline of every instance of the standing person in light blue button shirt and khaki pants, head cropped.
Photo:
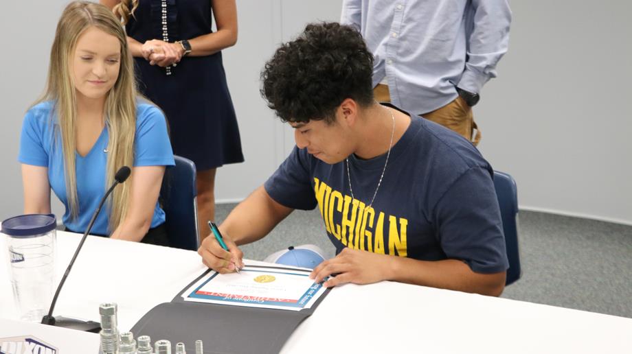
[(356, 27), (375, 57), (378, 101), (477, 145), (471, 106), (508, 49), (506, 0), (344, 0), (341, 23)]

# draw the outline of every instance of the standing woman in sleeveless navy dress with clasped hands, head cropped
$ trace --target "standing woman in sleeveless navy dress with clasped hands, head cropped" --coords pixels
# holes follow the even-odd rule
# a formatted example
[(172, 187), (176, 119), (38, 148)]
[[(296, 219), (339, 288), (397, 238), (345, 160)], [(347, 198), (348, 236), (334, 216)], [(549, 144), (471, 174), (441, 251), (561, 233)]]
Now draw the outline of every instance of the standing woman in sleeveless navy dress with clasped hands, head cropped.
[(214, 220), (217, 167), (244, 161), (221, 54), (237, 41), (235, 0), (101, 3), (126, 25), (139, 91), (165, 112), (174, 154), (196, 165), (203, 237), (206, 221)]

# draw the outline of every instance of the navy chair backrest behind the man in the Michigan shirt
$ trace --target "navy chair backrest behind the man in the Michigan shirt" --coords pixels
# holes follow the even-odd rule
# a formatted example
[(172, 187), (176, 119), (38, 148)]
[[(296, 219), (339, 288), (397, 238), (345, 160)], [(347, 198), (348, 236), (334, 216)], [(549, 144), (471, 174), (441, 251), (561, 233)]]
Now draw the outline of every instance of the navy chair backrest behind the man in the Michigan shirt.
[(522, 275), (518, 247), (518, 189), (516, 181), (511, 176), (498, 171), (494, 171), (494, 186), (500, 206), (507, 258), (509, 259), (505, 285), (509, 285), (520, 279)]

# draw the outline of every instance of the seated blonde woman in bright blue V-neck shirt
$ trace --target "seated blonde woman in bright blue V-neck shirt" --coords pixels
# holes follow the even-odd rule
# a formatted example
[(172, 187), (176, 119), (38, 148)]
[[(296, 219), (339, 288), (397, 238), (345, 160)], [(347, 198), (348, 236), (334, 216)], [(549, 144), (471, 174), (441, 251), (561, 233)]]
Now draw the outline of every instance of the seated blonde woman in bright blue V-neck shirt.
[(167, 244), (157, 198), (166, 165), (173, 165), (161, 111), (139, 100), (125, 32), (103, 5), (76, 1), (65, 8), (51, 50), (45, 93), (22, 128), (24, 212), (49, 213), (50, 191), (65, 204), (63, 222), (82, 233), (127, 165), (95, 235)]

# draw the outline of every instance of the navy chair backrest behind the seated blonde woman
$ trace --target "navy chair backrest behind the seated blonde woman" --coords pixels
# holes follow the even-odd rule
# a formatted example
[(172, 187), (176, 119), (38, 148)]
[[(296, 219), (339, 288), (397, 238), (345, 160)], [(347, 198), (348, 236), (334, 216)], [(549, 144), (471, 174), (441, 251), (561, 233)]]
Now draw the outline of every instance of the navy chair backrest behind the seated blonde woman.
[(193, 161), (173, 156), (175, 166), (165, 169), (160, 202), (165, 211), (165, 226), (171, 247), (197, 250), (200, 237), (197, 224), (196, 169)]

